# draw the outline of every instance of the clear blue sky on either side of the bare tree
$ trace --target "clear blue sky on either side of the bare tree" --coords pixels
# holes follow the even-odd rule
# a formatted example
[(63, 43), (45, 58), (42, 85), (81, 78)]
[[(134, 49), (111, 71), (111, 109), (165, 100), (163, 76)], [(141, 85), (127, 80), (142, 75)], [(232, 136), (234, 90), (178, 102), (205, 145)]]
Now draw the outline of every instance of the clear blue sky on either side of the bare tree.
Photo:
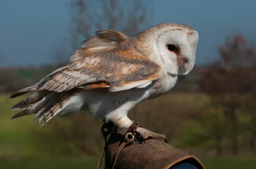
[[(70, 0), (0, 0), (0, 66), (55, 62), (55, 47), (68, 37)], [(172, 22), (199, 33), (196, 64), (212, 62), (226, 35), (256, 40), (256, 0), (152, 0), (146, 27)], [(146, 28), (145, 27), (145, 28)], [(134, 32), (136, 34), (137, 32)]]

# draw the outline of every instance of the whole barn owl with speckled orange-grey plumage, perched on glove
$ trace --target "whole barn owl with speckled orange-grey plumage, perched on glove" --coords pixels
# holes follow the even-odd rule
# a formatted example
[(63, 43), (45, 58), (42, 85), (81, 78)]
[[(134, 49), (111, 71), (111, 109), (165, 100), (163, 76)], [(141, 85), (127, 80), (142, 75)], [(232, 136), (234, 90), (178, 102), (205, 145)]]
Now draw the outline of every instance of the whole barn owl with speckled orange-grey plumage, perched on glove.
[[(105, 123), (128, 128), (133, 123), (129, 110), (169, 92), (192, 70), (197, 43), (197, 31), (176, 23), (154, 25), (133, 37), (96, 31), (66, 66), (10, 97), (34, 92), (12, 107), (21, 110), (13, 118), (35, 114), (43, 126), (55, 115), (76, 114), (85, 106)], [(141, 127), (137, 132), (166, 139)]]

